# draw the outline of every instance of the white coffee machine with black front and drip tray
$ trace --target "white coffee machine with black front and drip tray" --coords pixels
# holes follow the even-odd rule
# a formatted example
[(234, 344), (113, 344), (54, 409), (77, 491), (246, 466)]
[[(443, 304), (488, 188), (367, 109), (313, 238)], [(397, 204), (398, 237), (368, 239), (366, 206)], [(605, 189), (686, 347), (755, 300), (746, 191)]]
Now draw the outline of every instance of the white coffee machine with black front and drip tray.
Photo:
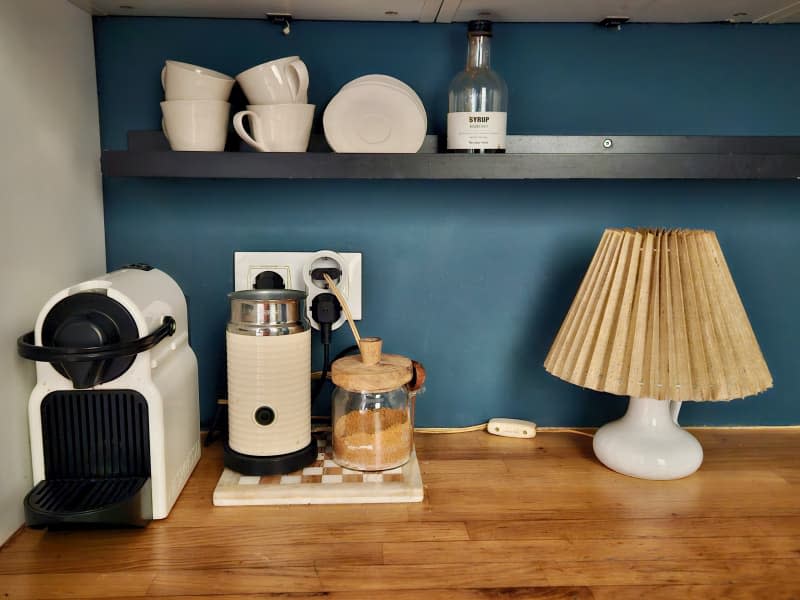
[(166, 517), (200, 458), (197, 360), (175, 281), (131, 265), (62, 290), (18, 351), (37, 377), (28, 525)]

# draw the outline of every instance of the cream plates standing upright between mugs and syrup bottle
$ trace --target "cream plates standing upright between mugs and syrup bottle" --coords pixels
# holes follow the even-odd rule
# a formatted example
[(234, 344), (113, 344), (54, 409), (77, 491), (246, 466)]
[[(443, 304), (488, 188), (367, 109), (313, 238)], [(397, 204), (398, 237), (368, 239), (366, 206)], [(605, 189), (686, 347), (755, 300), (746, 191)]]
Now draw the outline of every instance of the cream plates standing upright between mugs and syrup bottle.
[(428, 117), (416, 92), (388, 75), (364, 75), (339, 90), (322, 117), (335, 152), (417, 152)]

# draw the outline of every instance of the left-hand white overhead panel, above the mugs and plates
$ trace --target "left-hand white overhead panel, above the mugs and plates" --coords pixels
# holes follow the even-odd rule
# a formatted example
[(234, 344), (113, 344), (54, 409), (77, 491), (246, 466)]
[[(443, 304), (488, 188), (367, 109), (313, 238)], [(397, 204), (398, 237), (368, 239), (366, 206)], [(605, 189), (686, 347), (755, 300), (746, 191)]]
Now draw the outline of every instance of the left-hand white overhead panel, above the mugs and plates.
[(441, 0), (70, 0), (94, 15), (262, 19), (289, 13), (322, 21), (433, 22)]

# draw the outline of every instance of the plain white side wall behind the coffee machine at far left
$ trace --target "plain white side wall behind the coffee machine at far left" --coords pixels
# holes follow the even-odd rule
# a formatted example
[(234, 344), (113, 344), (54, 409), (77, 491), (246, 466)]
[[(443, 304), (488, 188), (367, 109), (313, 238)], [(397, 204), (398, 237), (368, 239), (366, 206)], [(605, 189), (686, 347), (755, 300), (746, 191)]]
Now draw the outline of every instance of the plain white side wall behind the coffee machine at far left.
[(56, 291), (105, 271), (91, 17), (67, 0), (0, 1), (0, 544), (31, 488), (16, 353)]

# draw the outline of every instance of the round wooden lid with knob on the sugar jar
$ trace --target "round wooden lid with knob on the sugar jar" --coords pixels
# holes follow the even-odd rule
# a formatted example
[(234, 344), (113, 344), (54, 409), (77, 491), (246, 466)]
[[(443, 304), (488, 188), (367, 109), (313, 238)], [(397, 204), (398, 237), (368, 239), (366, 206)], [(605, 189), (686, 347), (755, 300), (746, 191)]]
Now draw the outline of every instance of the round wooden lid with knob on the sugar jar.
[(411, 359), (381, 354), (380, 338), (361, 338), (361, 354), (345, 356), (333, 363), (331, 379), (351, 392), (388, 392), (405, 385), (414, 374)]

